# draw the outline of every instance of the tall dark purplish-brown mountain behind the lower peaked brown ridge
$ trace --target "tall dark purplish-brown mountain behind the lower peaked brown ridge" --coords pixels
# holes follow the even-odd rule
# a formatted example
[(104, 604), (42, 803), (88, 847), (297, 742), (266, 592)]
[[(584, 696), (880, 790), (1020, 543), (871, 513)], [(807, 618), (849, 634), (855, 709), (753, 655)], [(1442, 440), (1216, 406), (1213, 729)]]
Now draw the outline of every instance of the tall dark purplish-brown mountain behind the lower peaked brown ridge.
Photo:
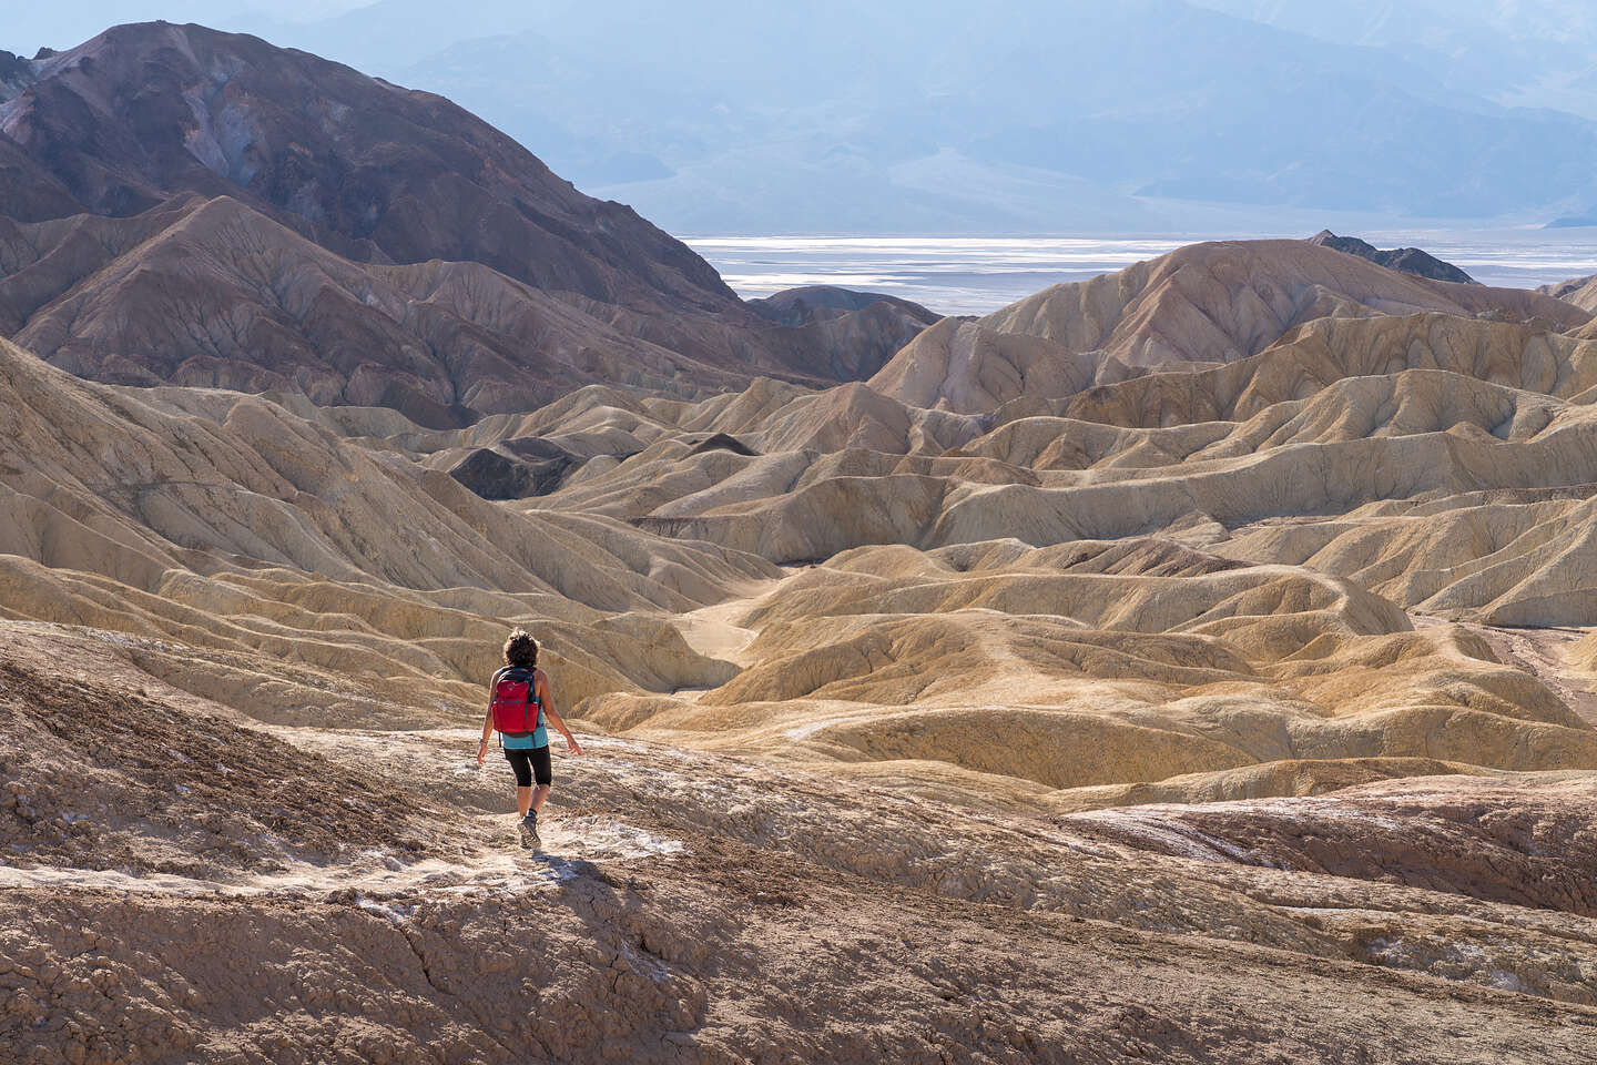
[(0, 129), (73, 196), (72, 214), (227, 195), (363, 262), (473, 260), (632, 307), (738, 303), (709, 263), (631, 208), (581, 195), (439, 96), (164, 22), (118, 26), (26, 65), (32, 83), (5, 104)]

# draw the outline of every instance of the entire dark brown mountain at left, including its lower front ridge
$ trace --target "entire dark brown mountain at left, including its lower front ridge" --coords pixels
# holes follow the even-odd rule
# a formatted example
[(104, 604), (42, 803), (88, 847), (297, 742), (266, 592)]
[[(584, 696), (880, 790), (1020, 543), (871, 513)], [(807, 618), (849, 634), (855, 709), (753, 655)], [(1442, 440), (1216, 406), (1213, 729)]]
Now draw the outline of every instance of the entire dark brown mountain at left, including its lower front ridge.
[(0, 61), (0, 332), (85, 377), (447, 426), (591, 382), (864, 377), (921, 324), (778, 326), (449, 101), (254, 37)]

